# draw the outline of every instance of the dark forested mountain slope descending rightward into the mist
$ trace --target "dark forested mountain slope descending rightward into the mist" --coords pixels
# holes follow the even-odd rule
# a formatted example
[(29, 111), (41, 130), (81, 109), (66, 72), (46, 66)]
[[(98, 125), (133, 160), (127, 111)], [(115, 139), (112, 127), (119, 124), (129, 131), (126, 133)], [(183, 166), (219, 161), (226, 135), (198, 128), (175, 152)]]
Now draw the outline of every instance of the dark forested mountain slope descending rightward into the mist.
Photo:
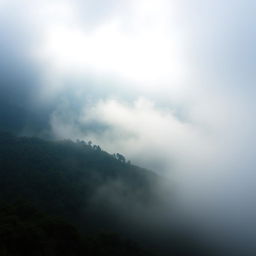
[(164, 222), (169, 205), (160, 181), (90, 142), (2, 132), (0, 254), (192, 253), (191, 240), (178, 238)]

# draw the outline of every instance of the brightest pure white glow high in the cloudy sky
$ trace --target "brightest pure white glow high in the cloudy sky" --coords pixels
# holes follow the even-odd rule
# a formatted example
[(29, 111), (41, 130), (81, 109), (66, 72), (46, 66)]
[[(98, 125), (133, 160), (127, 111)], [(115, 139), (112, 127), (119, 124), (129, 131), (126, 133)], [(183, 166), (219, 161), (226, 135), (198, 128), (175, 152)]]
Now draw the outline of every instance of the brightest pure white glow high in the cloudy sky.
[(128, 33), (115, 17), (92, 31), (49, 24), (39, 55), (59, 72), (111, 75), (145, 89), (179, 87), (188, 75), (185, 49), (175, 30), (166, 33), (159, 5), (141, 1), (139, 6), (136, 15), (145, 8), (144, 14)]

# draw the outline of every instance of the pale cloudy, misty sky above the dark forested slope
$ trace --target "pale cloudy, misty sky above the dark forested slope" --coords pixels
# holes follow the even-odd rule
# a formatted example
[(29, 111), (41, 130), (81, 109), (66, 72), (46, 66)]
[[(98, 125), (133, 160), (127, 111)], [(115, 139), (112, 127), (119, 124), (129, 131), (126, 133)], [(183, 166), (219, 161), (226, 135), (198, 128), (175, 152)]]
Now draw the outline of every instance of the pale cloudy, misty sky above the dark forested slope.
[(122, 153), (255, 234), (255, 5), (0, 0), (1, 127)]

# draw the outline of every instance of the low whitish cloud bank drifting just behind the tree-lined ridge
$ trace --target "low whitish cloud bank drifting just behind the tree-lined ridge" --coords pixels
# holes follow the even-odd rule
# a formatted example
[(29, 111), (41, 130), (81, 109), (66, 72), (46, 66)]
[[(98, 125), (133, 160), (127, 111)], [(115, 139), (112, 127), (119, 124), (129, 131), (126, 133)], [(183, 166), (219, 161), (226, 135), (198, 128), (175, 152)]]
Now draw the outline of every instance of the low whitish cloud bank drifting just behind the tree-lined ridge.
[(238, 181), (239, 168), (248, 160), (248, 153), (243, 153), (247, 141), (241, 141), (246, 139), (242, 125), (241, 135), (232, 131), (234, 127), (239, 129), (238, 123), (232, 124), (230, 111), (221, 116), (226, 105), (216, 104), (220, 110), (217, 116), (207, 119), (204, 115), (209, 110), (202, 106), (203, 111), (194, 110), (193, 116), (182, 120), (175, 111), (160, 108), (145, 98), (132, 103), (99, 100), (81, 107), (78, 113), (70, 112), (70, 106), (61, 106), (52, 115), (51, 127), (58, 138), (92, 140), (109, 152), (124, 153), (133, 162), (175, 180), (189, 199), (202, 196), (208, 200), (207, 193), (214, 197), (219, 185)]

